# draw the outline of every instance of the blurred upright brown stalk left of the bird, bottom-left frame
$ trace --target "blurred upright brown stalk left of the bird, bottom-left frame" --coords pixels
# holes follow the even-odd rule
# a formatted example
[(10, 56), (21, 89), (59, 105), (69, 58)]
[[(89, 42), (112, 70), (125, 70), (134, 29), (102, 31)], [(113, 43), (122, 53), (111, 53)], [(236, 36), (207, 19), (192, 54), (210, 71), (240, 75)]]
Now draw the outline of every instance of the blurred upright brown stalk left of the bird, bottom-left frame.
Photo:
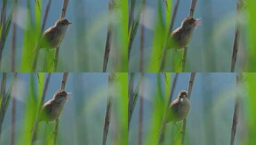
[[(17, 78), (17, 73), (14, 73), (14, 78)], [(15, 110), (16, 110), (16, 83), (12, 87), (12, 101), (11, 101), (11, 145), (15, 144)]]

